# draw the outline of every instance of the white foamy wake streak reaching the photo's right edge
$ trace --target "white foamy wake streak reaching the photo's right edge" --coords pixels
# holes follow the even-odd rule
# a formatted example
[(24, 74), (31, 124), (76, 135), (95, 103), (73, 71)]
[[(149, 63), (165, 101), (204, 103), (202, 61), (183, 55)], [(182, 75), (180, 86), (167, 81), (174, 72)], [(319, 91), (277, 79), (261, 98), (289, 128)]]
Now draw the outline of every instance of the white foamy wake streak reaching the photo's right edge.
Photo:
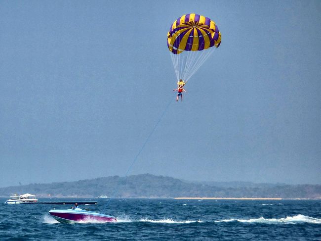
[(254, 218), (254, 219), (225, 219), (218, 220), (215, 223), (219, 222), (241, 222), (241, 223), (264, 223), (264, 224), (297, 224), (297, 223), (313, 223), (313, 224), (321, 224), (321, 219), (313, 218), (309, 216), (304, 216), (302, 214), (286, 218), (270, 218), (266, 219), (263, 217)]

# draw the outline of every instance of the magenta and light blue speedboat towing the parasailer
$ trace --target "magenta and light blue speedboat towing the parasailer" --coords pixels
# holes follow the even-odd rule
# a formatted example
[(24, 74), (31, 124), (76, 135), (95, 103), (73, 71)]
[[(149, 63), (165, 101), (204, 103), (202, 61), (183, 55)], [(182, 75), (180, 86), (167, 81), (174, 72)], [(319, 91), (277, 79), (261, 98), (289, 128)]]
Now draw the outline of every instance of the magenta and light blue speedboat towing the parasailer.
[(50, 215), (60, 223), (105, 223), (117, 222), (116, 217), (93, 211), (83, 210), (79, 207), (70, 209), (52, 209)]

